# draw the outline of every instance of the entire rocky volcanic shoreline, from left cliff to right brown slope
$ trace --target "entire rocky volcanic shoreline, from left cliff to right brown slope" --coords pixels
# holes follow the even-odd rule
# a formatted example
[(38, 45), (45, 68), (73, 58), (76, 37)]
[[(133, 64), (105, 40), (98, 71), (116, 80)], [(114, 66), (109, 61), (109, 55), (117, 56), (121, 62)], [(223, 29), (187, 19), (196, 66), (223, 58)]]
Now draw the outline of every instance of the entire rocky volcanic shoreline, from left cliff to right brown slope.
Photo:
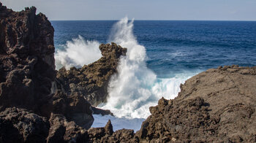
[(102, 58), (55, 70), (54, 29), (36, 8), (0, 2), (0, 142), (256, 142), (256, 67), (220, 66), (162, 98), (140, 131), (91, 128), (127, 49), (100, 45)]

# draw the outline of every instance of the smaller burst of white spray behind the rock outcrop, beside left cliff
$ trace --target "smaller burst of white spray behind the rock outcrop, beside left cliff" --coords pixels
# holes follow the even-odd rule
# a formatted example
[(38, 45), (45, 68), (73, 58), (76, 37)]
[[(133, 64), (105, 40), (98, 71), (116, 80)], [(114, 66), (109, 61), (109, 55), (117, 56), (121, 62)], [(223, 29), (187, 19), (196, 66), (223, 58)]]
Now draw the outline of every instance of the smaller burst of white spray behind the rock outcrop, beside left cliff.
[(65, 50), (57, 50), (55, 54), (56, 69), (65, 66), (70, 69), (72, 66), (83, 66), (101, 58), (99, 42), (86, 41), (82, 36), (68, 41)]

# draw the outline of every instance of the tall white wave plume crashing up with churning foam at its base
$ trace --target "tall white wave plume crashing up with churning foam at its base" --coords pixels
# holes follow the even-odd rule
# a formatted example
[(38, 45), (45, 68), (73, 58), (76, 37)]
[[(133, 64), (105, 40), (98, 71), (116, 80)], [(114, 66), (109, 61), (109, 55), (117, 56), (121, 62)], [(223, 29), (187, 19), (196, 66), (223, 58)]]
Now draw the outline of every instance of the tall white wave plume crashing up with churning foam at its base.
[(118, 65), (118, 74), (110, 80), (107, 104), (99, 105), (110, 109), (116, 117), (146, 118), (149, 107), (156, 106), (159, 98), (175, 98), (181, 82), (188, 77), (158, 79), (146, 66), (146, 48), (139, 45), (132, 33), (133, 20), (123, 18), (113, 26), (110, 40), (127, 47), (127, 56)]

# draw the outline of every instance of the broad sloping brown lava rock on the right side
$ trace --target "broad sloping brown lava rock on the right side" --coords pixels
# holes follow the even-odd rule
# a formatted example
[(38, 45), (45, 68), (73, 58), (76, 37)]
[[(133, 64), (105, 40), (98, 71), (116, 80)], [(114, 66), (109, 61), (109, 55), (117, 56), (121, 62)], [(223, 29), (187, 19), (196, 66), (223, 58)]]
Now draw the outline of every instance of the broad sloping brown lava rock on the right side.
[(140, 142), (256, 142), (256, 67), (208, 69), (159, 100)]

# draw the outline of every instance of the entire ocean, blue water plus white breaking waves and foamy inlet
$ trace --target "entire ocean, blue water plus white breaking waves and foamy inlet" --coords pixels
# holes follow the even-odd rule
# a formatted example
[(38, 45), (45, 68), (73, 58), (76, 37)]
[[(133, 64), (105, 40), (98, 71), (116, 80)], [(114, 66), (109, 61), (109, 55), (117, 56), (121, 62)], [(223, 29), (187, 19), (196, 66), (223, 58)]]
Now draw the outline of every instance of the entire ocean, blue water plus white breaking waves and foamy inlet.
[(83, 66), (101, 57), (100, 43), (127, 47), (109, 98), (92, 127), (113, 123), (116, 131), (138, 131), (159, 98), (175, 98), (189, 77), (225, 65), (256, 66), (255, 21), (84, 20), (51, 21), (55, 28), (56, 69)]

